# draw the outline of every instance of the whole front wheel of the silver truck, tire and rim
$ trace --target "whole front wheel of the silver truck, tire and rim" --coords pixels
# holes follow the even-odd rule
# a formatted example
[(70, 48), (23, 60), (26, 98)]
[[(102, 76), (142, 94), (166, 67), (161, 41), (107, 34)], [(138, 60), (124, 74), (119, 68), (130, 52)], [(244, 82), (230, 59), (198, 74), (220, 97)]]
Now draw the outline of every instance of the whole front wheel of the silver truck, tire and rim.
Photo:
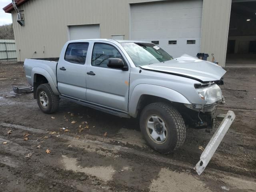
[(142, 110), (140, 130), (149, 146), (164, 154), (182, 146), (186, 138), (182, 116), (162, 102), (149, 104)]

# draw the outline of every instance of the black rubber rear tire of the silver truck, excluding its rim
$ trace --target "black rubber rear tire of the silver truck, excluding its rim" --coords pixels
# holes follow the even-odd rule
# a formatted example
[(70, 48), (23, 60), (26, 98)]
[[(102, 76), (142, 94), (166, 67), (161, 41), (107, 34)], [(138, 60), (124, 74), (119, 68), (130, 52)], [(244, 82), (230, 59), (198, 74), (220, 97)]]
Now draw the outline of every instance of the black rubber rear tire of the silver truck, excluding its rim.
[[(48, 106), (46, 108), (44, 108), (41, 104), (40, 104), (40, 92), (44, 91), (48, 97)], [(54, 92), (52, 91), (52, 88), (50, 86), (50, 84), (46, 83), (46, 84), (41, 84), (38, 86), (38, 88), (36, 89), (36, 101), (37, 104), (39, 106), (39, 108), (42, 110), (42, 112), (47, 113), (47, 114), (51, 114), (56, 112), (56, 110), (58, 110), (59, 107), (59, 96), (54, 94)]]

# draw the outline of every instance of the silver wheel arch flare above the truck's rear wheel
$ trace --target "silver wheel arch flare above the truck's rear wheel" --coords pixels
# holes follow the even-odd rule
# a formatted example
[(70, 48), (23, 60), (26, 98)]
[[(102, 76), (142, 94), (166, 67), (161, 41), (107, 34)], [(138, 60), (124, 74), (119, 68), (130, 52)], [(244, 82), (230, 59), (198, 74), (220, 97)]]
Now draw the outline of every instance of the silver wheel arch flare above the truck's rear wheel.
[(35, 82), (35, 74), (40, 74), (40, 75), (44, 76), (48, 80), (48, 83), (50, 84), (54, 94), (60, 95), (60, 93), (57, 89), (57, 82), (56, 83), (54, 82), (54, 80), (52, 79), (50, 74), (45, 69), (40, 68), (40, 67), (34, 67), (32, 69), (32, 73), (31, 73), (31, 77), (32, 77), (31, 80), (33, 80), (32, 83)]

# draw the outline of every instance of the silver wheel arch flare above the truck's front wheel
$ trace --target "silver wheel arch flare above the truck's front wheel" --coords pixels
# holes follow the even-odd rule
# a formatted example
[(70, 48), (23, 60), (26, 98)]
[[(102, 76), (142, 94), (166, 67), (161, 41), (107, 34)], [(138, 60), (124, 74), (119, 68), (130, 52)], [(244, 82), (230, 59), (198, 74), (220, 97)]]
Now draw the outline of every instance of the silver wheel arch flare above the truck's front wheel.
[(136, 117), (138, 102), (142, 95), (157, 96), (157, 97), (167, 99), (170, 102), (191, 104), (191, 102), (187, 98), (185, 98), (182, 94), (170, 88), (166, 88), (158, 85), (139, 84), (134, 88), (130, 96), (130, 101), (128, 106), (130, 116)]

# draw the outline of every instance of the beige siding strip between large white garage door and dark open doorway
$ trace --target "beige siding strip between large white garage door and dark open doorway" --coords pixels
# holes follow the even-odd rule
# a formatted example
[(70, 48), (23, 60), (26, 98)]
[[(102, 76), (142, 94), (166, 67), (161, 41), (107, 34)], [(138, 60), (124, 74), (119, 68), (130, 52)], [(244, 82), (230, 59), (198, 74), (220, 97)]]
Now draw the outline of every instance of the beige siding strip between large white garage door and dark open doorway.
[(204, 0), (201, 52), (214, 54), (220, 66), (225, 66), (228, 42), (228, 28), (232, 0)]

